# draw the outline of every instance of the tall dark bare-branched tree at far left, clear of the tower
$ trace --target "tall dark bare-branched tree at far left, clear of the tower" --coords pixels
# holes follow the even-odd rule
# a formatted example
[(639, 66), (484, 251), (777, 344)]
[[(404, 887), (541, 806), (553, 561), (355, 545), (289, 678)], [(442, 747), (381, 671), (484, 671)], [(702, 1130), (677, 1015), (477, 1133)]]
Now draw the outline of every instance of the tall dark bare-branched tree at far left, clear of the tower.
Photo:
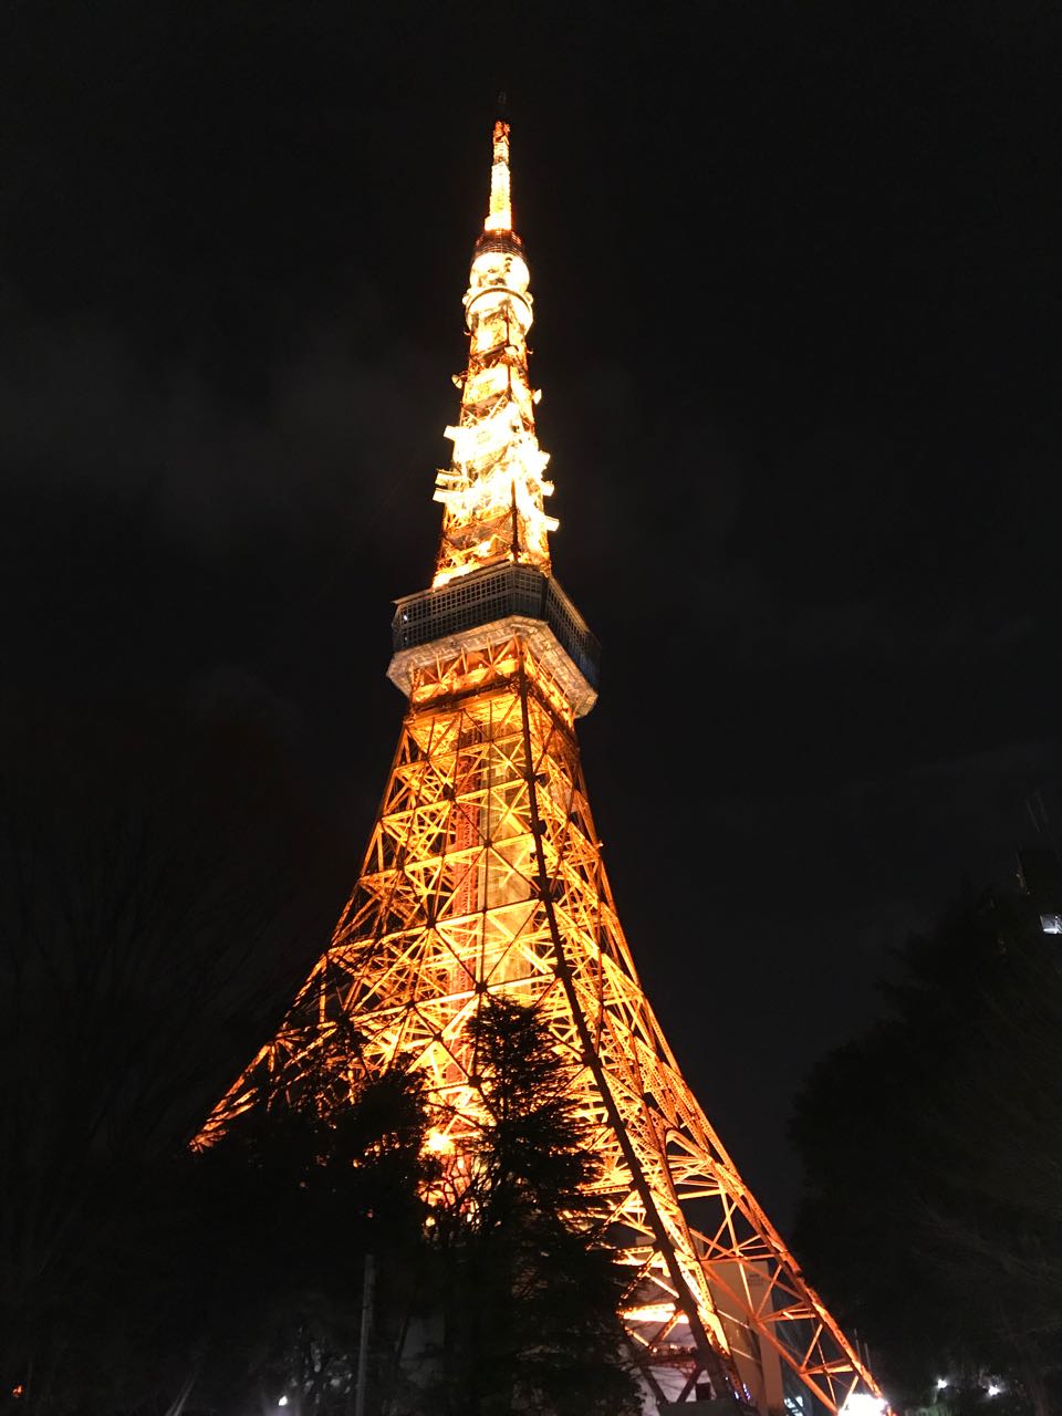
[(1, 753), (0, 1391), (133, 1408), (169, 1381), (174, 1158), (327, 937), (337, 862), (241, 711), (7, 704)]

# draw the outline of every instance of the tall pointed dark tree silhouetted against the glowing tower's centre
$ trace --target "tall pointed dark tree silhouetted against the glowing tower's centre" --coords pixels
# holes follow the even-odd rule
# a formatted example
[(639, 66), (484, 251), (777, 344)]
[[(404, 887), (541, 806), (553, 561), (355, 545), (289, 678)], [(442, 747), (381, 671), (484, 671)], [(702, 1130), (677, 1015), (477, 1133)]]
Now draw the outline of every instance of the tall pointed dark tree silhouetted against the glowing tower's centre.
[(622, 1416), (639, 1402), (616, 1315), (623, 1277), (586, 1201), (596, 1160), (571, 1065), (534, 1010), (487, 998), (470, 1024), (484, 1120), (439, 1225), (442, 1410)]

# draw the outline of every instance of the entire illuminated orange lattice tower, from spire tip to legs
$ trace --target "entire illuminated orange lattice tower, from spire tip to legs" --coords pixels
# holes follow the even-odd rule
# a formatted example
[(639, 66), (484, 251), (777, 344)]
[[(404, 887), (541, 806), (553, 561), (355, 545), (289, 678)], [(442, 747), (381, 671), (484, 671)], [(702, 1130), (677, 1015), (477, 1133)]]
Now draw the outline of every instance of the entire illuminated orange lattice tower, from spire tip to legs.
[[(683, 1080), (616, 918), (575, 739), (599, 654), (549, 561), (528, 282), (496, 123), (435, 579), (394, 617), (389, 677), (409, 700), (398, 750), (331, 944), (204, 1140), (251, 1104), (262, 1068), (285, 1087), (321, 1058), (340, 1085), (412, 1063), (459, 1182), (479, 1112), (466, 1025), (506, 994), (548, 1020), (578, 1069), (647, 1391), (806, 1416), (869, 1405), (872, 1376)], [(357, 1055), (336, 1052), (340, 1035), (357, 1035)]]

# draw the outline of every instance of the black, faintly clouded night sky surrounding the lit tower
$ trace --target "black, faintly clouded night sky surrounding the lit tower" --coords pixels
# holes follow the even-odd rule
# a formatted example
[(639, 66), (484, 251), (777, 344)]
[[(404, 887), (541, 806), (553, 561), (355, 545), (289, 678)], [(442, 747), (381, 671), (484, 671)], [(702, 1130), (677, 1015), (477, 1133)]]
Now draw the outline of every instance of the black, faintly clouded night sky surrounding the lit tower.
[(784, 1226), (809, 1068), (1058, 810), (1061, 41), (1046, 0), (8, 0), (4, 691), (239, 695), (353, 884), (504, 88), (606, 862)]

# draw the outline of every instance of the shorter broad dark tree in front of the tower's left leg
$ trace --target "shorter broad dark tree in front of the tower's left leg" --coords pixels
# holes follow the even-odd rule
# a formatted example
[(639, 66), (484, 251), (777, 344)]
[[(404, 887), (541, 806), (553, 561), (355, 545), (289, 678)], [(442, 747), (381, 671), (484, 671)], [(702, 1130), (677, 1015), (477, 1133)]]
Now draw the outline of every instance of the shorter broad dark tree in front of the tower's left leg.
[(421, 1276), (426, 1155), (421, 1082), (389, 1073), (341, 1100), (327, 1087), (295, 1103), (263, 1096), (190, 1158), (197, 1409), (259, 1412), (283, 1398), (293, 1416), (353, 1410), (362, 1304), (367, 1409), (381, 1409)]

